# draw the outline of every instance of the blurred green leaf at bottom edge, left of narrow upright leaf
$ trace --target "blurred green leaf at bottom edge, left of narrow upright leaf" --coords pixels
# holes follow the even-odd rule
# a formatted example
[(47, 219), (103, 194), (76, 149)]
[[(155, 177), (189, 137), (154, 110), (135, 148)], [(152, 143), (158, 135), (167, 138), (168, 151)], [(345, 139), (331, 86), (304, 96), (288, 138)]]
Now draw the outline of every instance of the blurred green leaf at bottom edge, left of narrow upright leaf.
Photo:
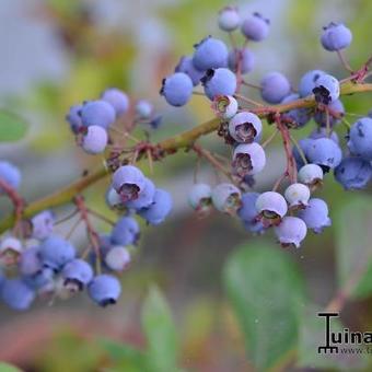
[(136, 348), (119, 344), (109, 339), (100, 339), (98, 344), (107, 352), (113, 361), (113, 369), (111, 370), (125, 370), (128, 372), (147, 371), (144, 352)]

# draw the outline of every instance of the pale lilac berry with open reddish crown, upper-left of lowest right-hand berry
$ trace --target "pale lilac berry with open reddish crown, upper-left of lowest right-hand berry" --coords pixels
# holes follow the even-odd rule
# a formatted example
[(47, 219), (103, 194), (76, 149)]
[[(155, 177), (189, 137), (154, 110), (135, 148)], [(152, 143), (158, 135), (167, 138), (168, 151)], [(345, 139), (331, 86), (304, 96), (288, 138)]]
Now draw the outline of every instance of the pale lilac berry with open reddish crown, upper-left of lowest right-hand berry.
[(256, 200), (257, 213), (265, 226), (277, 225), (288, 211), (286, 199), (276, 191), (266, 191)]

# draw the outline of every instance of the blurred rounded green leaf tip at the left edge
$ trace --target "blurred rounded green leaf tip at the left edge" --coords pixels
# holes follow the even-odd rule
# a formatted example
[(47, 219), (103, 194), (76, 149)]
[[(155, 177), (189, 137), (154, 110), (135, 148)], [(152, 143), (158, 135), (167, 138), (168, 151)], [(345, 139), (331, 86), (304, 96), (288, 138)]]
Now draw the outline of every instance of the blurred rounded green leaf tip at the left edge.
[(12, 142), (22, 139), (27, 132), (27, 124), (19, 116), (0, 111), (0, 142)]

